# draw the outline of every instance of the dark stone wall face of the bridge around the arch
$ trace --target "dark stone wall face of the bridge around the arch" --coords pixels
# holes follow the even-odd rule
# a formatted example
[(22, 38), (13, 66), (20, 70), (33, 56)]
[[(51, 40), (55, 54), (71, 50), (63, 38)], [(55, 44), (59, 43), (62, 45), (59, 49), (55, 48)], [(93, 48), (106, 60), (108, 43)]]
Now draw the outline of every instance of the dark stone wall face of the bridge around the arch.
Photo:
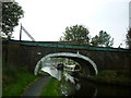
[[(128, 70), (131, 68), (131, 52), (129, 51), (103, 51), (76, 48), (59, 48), (43, 46), (26, 46), (21, 44), (2, 44), (3, 65), (27, 66), (34, 71), (36, 63), (46, 54), (55, 52), (72, 52), (92, 59), (98, 71), (100, 70)], [(7, 63), (5, 63), (7, 62)]]

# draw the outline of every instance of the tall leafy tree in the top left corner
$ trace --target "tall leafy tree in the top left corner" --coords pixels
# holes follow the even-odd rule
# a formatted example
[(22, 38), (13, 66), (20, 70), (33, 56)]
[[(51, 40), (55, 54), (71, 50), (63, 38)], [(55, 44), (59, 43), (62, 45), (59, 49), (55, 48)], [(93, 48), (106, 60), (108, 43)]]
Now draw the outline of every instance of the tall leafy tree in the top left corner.
[(17, 2), (2, 2), (2, 37), (3, 35), (10, 39), (15, 26), (19, 25), (19, 20), (23, 17), (24, 11)]

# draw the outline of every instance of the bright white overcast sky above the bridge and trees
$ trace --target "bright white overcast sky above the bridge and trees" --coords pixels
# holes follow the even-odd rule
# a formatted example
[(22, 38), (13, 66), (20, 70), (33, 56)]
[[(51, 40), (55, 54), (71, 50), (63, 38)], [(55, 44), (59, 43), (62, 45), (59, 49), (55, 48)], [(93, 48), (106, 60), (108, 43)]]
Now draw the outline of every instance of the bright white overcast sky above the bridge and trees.
[[(91, 37), (107, 32), (114, 47), (126, 47), (130, 0), (15, 0), (24, 10), (20, 20), (37, 41), (58, 41), (67, 26), (84, 25)], [(20, 25), (14, 39), (20, 39)], [(22, 40), (31, 40), (23, 32)]]

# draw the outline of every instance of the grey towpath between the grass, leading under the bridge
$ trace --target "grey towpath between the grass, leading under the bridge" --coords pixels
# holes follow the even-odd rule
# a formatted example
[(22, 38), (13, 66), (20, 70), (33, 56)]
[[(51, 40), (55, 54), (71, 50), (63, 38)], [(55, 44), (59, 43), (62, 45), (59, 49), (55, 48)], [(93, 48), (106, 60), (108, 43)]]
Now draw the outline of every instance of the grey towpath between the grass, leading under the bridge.
[(49, 76), (36, 81), (22, 96), (40, 96), (43, 88), (47, 85)]

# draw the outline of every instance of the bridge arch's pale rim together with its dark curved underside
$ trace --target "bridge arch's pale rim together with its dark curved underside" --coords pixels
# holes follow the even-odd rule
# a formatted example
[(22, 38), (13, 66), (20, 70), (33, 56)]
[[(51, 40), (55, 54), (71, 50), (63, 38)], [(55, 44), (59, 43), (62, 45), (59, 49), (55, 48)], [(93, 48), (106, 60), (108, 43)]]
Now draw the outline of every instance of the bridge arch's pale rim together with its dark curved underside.
[(98, 70), (93, 60), (91, 60), (88, 57), (79, 54), (79, 53), (70, 53), (70, 52), (58, 52), (58, 53), (49, 53), (45, 57), (43, 57), (36, 64), (34, 74), (37, 75), (39, 69), (45, 66), (45, 61), (49, 58), (67, 58), (70, 60), (75, 61), (81, 65), (81, 74), (83, 77), (87, 77), (90, 75), (97, 75)]

